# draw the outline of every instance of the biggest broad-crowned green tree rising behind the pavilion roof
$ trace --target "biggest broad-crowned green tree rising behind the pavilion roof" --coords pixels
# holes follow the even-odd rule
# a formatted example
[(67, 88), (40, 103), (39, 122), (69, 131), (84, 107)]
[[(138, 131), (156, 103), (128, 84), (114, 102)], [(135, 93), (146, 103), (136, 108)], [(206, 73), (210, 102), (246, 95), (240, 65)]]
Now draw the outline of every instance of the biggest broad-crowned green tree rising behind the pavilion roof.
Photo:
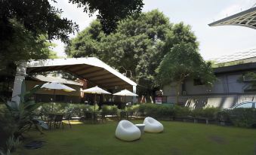
[(180, 42), (198, 46), (190, 26), (170, 23), (162, 12), (153, 10), (119, 22), (110, 35), (104, 35), (96, 20), (72, 39), (66, 53), (71, 57), (96, 56), (150, 91), (157, 87), (155, 70), (165, 53)]

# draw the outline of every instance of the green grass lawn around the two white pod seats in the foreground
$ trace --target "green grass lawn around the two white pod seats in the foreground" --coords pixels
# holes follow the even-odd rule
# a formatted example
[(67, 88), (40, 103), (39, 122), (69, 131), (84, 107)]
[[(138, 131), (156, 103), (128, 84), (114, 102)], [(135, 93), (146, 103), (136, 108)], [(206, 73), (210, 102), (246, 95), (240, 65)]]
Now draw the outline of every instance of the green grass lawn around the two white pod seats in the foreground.
[[(142, 120), (134, 121), (142, 123)], [(30, 137), (45, 141), (36, 150), (22, 146), (15, 154), (83, 155), (83, 154), (255, 154), (256, 130), (235, 127), (164, 121), (162, 133), (144, 133), (137, 141), (115, 138), (117, 122), (76, 124), (69, 129), (46, 131), (45, 135), (29, 132)], [(27, 139), (25, 142), (30, 141)]]

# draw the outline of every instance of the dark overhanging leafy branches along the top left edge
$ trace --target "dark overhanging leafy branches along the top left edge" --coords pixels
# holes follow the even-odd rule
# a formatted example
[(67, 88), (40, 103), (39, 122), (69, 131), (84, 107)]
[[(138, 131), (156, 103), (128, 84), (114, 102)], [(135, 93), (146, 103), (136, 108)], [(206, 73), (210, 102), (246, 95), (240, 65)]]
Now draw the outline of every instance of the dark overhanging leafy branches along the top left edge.
[[(56, 2), (56, 1), (53, 1)], [(105, 32), (115, 29), (116, 22), (128, 15), (139, 13), (143, 7), (141, 0), (130, 1), (92, 1), (92, 0), (69, 0), (72, 4), (77, 4), (79, 8), (83, 7), (85, 12), (93, 14), (98, 11), (98, 19), (103, 24)], [(33, 35), (38, 36), (47, 34), (48, 39), (61, 39), (64, 42), (69, 41), (69, 34), (78, 30), (76, 23), (66, 18), (60, 18), (63, 11), (57, 9), (48, 2), (23, 0), (1, 2), (0, 8), (0, 28), (1, 41), (13, 39), (13, 25), (11, 20), (17, 20), (22, 23), (24, 28)]]

